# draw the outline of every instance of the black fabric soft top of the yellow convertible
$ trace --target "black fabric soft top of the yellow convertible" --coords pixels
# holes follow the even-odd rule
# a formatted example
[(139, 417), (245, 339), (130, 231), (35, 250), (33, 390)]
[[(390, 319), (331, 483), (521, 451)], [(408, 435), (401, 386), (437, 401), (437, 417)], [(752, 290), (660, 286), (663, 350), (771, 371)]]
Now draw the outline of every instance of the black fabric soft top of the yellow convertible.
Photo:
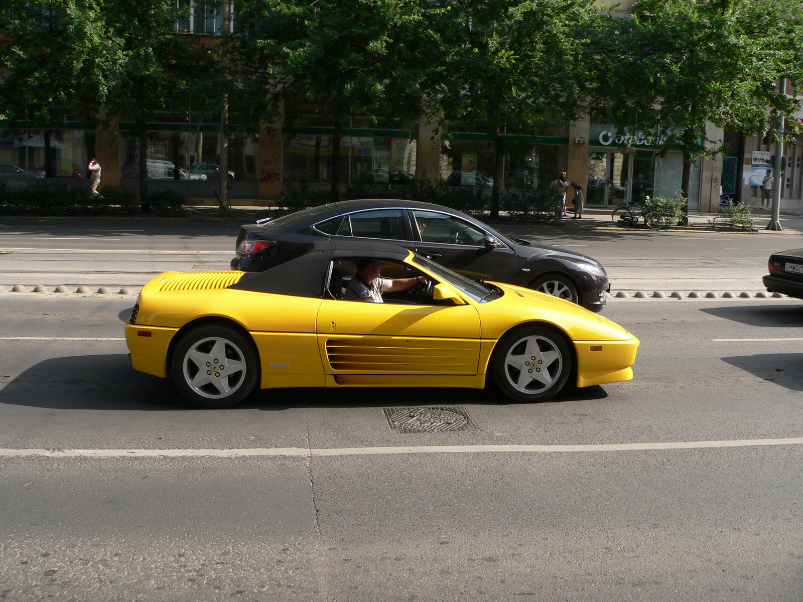
[(300, 246), (287, 261), (262, 272), (248, 272), (229, 288), (274, 295), (321, 297), (329, 262), (337, 258), (377, 258), (402, 261), (410, 254), (403, 246), (373, 241), (321, 241)]

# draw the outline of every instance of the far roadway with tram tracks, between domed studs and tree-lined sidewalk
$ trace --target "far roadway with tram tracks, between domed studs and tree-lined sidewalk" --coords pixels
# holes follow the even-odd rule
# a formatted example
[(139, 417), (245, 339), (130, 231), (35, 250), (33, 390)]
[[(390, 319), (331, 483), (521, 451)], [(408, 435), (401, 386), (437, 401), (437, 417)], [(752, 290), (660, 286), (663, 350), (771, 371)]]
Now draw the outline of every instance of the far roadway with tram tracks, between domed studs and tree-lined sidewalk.
[[(251, 218), (243, 217), (243, 222)], [(599, 259), (613, 291), (763, 290), (769, 254), (803, 247), (803, 220), (784, 233), (651, 232), (614, 228), (607, 216), (560, 227), (499, 222), (505, 234)], [(0, 286), (140, 287), (165, 270), (227, 270), (236, 221), (165, 218), (3, 218)]]

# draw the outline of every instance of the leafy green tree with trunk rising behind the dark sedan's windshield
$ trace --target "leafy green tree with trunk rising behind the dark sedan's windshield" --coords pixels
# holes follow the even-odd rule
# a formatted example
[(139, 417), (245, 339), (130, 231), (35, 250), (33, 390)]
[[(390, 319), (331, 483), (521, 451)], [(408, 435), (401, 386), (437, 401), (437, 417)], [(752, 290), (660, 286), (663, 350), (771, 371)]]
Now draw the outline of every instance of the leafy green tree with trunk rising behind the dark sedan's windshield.
[(495, 150), (491, 217), (499, 216), (504, 125), (572, 120), (584, 109), (589, 35), (601, 11), (591, 0), (441, 0), (430, 10), (439, 45), (427, 86), (446, 125), (472, 121)]

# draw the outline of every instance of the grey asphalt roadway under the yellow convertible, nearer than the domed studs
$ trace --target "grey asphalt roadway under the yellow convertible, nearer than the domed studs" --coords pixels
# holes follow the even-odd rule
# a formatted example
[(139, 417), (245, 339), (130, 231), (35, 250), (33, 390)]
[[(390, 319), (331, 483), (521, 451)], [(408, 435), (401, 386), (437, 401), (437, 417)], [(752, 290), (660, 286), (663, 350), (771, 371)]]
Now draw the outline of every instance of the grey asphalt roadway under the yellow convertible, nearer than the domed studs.
[[(642, 340), (635, 379), (536, 405), (295, 389), (219, 411), (100, 340), (130, 305), (0, 295), (0, 448), (185, 450), (0, 457), (4, 600), (803, 597), (800, 443), (442, 447), (801, 437), (797, 300), (615, 299), (605, 315)], [(412, 405), (459, 405), (479, 430), (391, 431), (382, 410)], [(186, 451), (257, 448), (332, 455)]]

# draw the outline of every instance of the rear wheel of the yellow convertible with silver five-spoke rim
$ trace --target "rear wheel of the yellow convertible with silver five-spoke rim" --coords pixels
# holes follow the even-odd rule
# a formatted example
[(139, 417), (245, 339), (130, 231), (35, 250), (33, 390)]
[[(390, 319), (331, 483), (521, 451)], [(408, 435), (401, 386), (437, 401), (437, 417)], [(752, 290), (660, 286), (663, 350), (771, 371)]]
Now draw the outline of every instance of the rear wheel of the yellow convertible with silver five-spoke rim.
[[(224, 369), (216, 369), (220, 366)], [(201, 326), (181, 336), (173, 349), (170, 372), (176, 388), (190, 403), (228, 408), (248, 397), (259, 382), (259, 357), (251, 340), (234, 328)], [(203, 372), (209, 378), (205, 379)]]

